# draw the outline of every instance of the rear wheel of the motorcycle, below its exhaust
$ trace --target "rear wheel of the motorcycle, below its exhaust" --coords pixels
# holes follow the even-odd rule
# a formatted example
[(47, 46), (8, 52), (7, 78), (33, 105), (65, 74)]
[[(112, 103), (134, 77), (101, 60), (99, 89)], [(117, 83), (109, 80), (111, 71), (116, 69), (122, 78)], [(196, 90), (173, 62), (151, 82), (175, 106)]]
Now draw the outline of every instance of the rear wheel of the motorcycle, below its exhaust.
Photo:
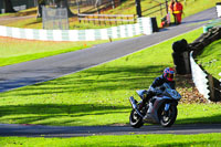
[(135, 109), (131, 109), (129, 115), (129, 124), (131, 127), (139, 128), (144, 125), (143, 118), (136, 113)]

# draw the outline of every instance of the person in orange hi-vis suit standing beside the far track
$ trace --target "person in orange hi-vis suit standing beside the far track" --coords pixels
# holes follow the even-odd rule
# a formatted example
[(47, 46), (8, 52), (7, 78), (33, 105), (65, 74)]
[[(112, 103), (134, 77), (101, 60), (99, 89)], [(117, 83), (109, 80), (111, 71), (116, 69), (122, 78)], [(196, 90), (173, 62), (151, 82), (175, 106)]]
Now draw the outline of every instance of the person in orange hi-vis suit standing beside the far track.
[(173, 13), (176, 17), (176, 24), (180, 24), (181, 20), (182, 20), (182, 4), (178, 1), (175, 0), (175, 4), (173, 4)]

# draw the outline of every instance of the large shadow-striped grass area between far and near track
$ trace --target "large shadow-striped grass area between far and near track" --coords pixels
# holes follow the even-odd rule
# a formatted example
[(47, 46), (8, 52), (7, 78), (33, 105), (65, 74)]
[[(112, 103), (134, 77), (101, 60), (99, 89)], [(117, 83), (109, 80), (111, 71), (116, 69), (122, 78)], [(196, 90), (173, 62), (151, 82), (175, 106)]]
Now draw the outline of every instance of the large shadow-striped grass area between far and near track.
[[(96, 67), (1, 93), (0, 123), (62, 126), (127, 124), (130, 112), (128, 97), (135, 95), (135, 90), (147, 88), (165, 67), (173, 66), (171, 44), (183, 38), (192, 42), (201, 33), (202, 29), (198, 29)], [(219, 105), (190, 105), (190, 109), (198, 112), (194, 114), (189, 113), (187, 107), (179, 105), (178, 124), (209, 123), (202, 116), (221, 122), (221, 111), (217, 111)]]

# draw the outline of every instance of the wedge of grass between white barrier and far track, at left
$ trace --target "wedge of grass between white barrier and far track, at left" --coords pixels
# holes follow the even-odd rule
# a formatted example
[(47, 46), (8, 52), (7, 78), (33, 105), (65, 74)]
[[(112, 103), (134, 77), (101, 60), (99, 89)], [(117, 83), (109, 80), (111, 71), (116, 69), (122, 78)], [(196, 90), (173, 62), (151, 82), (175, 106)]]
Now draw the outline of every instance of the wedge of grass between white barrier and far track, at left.
[(0, 38), (0, 66), (83, 50), (104, 41), (52, 42)]

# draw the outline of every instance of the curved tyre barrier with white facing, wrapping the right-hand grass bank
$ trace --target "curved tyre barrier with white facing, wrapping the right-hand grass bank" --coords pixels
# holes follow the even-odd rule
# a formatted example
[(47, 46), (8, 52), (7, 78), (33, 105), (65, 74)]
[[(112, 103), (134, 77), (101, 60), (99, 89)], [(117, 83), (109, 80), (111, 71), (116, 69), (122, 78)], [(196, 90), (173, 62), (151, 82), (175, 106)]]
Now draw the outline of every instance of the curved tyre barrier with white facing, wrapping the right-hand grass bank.
[(221, 28), (211, 28), (207, 33), (200, 35), (192, 43), (188, 44), (191, 50), (190, 64), (192, 80), (199, 93), (212, 102), (221, 101), (221, 86), (219, 80), (203, 71), (193, 60), (203, 49), (215, 40), (221, 39)]

